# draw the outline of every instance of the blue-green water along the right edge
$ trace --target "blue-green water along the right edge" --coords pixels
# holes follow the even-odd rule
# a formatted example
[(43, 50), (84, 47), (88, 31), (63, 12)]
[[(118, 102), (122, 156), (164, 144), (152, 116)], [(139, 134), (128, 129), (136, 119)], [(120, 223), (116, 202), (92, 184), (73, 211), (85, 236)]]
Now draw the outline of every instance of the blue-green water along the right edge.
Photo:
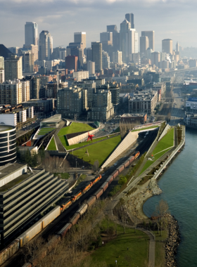
[(179, 267), (197, 266), (197, 131), (186, 129), (184, 150), (177, 155), (158, 185), (163, 194), (151, 197), (144, 204), (144, 213), (151, 216), (155, 205), (166, 200), (170, 213), (179, 223), (182, 242), (177, 251)]

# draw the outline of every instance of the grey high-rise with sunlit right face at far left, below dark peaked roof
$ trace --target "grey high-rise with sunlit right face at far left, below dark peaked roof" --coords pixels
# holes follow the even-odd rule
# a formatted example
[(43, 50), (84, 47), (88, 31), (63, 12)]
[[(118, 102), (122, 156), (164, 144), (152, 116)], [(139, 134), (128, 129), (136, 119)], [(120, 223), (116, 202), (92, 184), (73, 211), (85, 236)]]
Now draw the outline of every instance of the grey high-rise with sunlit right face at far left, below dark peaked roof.
[(11, 55), (4, 62), (5, 80), (23, 79), (22, 56)]

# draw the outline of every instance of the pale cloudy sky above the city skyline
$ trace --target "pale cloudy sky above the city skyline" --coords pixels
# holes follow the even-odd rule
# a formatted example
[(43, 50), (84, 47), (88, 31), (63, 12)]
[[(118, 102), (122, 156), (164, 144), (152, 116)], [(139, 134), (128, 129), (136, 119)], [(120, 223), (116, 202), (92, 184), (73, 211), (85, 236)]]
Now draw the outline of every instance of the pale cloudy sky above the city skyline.
[(197, 1), (195, 0), (0, 0), (0, 44), (23, 46), (25, 22), (37, 22), (39, 33), (48, 30), (53, 48), (74, 41), (73, 32), (87, 32), (87, 47), (100, 41), (106, 25), (117, 25), (125, 13), (134, 13), (134, 25), (155, 31), (155, 50), (161, 40), (196, 47)]

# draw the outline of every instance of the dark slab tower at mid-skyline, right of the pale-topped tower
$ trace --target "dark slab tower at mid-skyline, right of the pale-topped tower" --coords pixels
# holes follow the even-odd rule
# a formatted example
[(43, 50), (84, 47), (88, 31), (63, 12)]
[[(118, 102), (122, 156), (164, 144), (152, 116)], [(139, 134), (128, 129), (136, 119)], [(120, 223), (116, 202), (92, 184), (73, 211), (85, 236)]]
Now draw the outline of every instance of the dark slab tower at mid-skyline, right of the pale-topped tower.
[(99, 41), (91, 43), (91, 61), (95, 62), (95, 71), (102, 70), (102, 44)]

